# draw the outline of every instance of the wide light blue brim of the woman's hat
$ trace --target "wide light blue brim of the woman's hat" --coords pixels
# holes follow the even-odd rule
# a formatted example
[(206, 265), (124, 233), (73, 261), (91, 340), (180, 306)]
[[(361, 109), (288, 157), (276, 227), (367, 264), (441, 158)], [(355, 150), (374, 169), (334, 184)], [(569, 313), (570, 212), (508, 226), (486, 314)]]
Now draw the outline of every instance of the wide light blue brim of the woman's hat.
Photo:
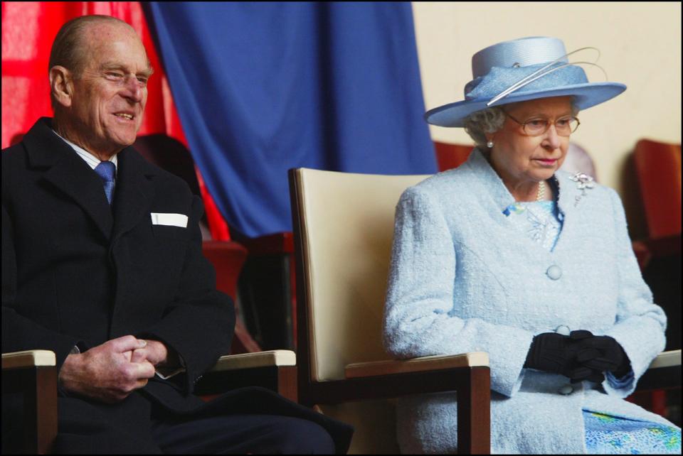
[(432, 125), (462, 127), (465, 126), (464, 121), (467, 116), (488, 107), (526, 102), (530, 99), (563, 97), (566, 95), (574, 97), (574, 104), (576, 104), (578, 109), (588, 109), (616, 97), (625, 89), (626, 86), (619, 82), (588, 82), (586, 84), (568, 85), (534, 92), (512, 92), (512, 94), (500, 99), (492, 104), (492, 106), (486, 105), (491, 100), (490, 98), (475, 98), (444, 104), (425, 112), (424, 119)]

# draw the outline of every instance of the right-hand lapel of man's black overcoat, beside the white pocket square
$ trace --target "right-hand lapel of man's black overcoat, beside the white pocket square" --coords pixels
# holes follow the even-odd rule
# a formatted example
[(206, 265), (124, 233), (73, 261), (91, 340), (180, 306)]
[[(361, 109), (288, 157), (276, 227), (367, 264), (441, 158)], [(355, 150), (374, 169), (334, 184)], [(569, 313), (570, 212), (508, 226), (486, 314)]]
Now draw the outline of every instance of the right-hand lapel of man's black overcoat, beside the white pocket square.
[(131, 147), (119, 153), (118, 161), (114, 193), (114, 241), (137, 225), (143, 217), (149, 217), (149, 207), (154, 200), (154, 185), (150, 178), (156, 174)]

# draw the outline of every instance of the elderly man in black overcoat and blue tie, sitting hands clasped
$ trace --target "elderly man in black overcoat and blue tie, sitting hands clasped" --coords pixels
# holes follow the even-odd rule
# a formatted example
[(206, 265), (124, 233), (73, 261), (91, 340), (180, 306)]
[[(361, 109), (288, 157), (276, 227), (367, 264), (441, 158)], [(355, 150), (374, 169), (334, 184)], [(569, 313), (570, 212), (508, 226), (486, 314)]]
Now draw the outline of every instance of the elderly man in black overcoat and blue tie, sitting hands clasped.
[[(152, 75), (133, 28), (70, 21), (49, 67), (54, 119), (2, 153), (2, 350), (55, 352), (54, 450), (345, 452), (349, 426), (270, 391), (192, 394), (233, 303), (201, 254), (201, 201), (129, 147)], [(3, 401), (3, 452), (18, 413)]]

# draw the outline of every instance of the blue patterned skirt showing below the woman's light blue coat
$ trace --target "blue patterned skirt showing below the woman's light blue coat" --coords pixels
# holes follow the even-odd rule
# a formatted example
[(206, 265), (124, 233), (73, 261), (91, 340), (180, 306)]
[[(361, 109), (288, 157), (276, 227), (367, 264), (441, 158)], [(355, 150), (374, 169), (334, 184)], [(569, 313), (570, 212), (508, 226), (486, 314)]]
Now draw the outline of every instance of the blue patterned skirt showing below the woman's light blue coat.
[(681, 429), (583, 411), (590, 455), (680, 455)]

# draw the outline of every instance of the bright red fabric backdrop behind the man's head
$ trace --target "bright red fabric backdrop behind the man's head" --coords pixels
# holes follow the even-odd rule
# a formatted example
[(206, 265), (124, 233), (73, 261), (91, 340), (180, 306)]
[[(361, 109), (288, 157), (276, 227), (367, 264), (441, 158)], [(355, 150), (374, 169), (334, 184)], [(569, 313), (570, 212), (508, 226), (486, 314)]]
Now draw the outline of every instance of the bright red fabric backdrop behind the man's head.
[[(137, 1), (2, 2), (2, 147), (18, 142), (41, 116), (52, 116), (48, 60), (59, 28), (86, 14), (129, 23), (142, 37), (154, 76), (140, 135), (162, 133), (188, 146), (159, 55)], [(228, 227), (197, 173), (211, 235), (228, 240)]]

